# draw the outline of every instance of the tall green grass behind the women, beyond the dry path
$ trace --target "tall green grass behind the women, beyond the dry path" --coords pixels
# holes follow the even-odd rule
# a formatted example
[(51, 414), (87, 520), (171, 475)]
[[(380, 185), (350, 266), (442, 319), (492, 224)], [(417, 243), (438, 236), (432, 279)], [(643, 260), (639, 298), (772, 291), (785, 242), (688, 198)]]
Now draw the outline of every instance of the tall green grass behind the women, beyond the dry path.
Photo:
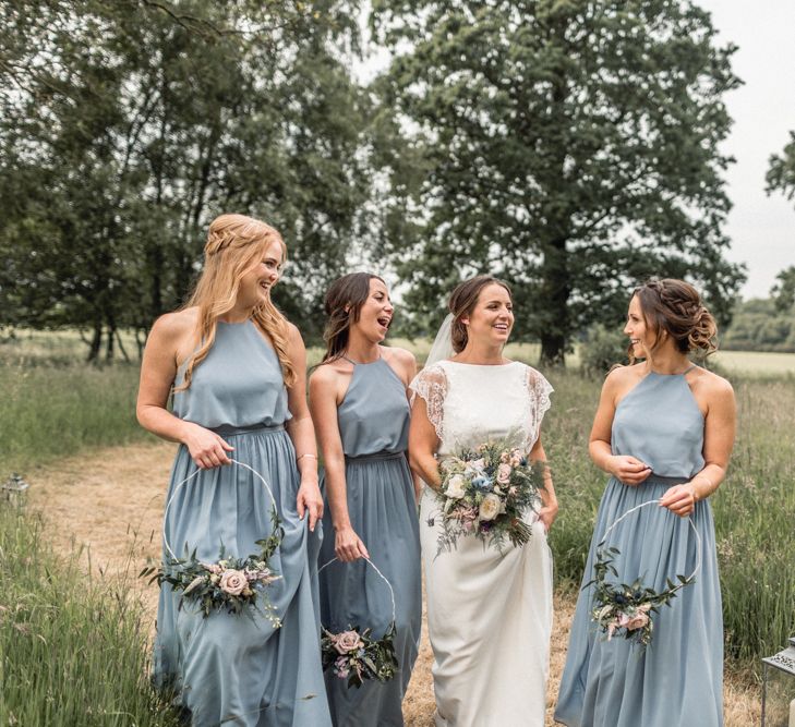
[[(0, 346), (0, 476), (101, 445), (147, 437), (134, 417), (135, 366), (74, 363), (74, 336)], [(409, 341), (422, 360), (426, 347)], [(310, 350), (310, 361), (321, 351)], [(509, 355), (534, 363), (538, 349)], [(72, 362), (72, 363), (70, 363)], [(556, 391), (544, 423), (561, 512), (552, 531), (558, 584), (577, 587), (606, 477), (588, 458), (599, 381), (549, 372)], [(732, 374), (739, 427), (730, 474), (712, 497), (726, 653), (757, 667), (795, 633), (795, 379)]]

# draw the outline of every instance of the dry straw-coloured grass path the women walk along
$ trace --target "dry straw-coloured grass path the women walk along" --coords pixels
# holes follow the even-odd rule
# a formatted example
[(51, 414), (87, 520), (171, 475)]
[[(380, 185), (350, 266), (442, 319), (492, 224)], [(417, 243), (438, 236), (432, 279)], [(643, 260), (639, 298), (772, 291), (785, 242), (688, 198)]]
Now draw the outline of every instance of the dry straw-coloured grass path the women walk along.
[[(106, 578), (137, 572), (147, 557), (160, 553), (160, 525), (174, 445), (141, 444), (111, 447), (43, 467), (31, 486), (29, 501), (40, 508), (56, 546), (69, 550), (85, 545), (85, 565)], [(152, 613), (157, 591), (137, 581), (136, 589)], [(547, 725), (566, 656), (576, 594), (555, 597)], [(420, 656), (403, 703), (408, 727), (433, 725), (433, 655), (423, 629)], [(759, 689), (742, 674), (727, 673), (724, 688), (726, 727), (759, 724)]]

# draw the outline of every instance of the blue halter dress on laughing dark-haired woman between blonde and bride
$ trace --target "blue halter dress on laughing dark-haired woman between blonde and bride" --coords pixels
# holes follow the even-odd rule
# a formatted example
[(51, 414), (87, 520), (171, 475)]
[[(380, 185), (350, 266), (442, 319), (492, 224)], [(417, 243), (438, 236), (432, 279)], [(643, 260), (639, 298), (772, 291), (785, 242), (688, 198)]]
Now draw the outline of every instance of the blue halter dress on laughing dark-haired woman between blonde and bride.
[[(352, 362), (353, 363), (353, 362)], [(370, 559), (395, 590), (399, 673), (388, 682), (348, 689), (326, 671), (336, 727), (393, 727), (403, 724), (401, 702), (417, 659), (422, 619), (420, 535), (414, 487), (406, 460), (409, 403), (406, 387), (384, 359), (354, 364), (337, 410), (346, 456), (348, 512)], [(334, 528), (326, 506), (321, 565), (334, 558)], [(389, 589), (363, 560), (334, 562), (320, 575), (323, 623), (334, 632), (371, 627), (381, 638), (392, 619)]]

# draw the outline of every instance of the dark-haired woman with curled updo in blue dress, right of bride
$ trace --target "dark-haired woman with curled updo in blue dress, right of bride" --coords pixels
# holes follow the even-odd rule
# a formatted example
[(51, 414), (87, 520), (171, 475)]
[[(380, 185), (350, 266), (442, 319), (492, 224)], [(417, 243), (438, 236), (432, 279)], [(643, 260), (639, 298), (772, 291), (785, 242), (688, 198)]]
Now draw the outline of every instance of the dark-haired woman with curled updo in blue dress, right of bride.
[[(577, 602), (555, 719), (568, 727), (723, 725), (723, 619), (709, 498), (726, 476), (735, 434), (731, 385), (690, 362), (715, 350), (716, 326), (696, 289), (650, 280), (629, 301), (629, 366), (606, 377), (590, 437), (609, 475)], [(611, 525), (633, 508), (642, 507)], [(689, 518), (689, 520), (688, 520)], [(610, 583), (662, 593), (690, 575), (651, 614), (642, 650), (607, 639), (591, 620), (597, 548), (619, 550)], [(586, 585), (589, 584), (589, 585)]]

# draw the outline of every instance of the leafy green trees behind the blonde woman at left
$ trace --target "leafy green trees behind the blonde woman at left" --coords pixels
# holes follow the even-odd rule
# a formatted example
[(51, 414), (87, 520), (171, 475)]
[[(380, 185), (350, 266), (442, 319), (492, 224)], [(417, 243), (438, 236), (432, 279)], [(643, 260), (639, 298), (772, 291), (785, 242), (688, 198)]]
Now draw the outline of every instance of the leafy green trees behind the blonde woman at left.
[(183, 302), (209, 220), (241, 211), (284, 233), (296, 262), (278, 302), (317, 332), (322, 291), (369, 227), (349, 10), (4, 3), (0, 323), (85, 326), (89, 359), (100, 344), (111, 359), (119, 328)]

